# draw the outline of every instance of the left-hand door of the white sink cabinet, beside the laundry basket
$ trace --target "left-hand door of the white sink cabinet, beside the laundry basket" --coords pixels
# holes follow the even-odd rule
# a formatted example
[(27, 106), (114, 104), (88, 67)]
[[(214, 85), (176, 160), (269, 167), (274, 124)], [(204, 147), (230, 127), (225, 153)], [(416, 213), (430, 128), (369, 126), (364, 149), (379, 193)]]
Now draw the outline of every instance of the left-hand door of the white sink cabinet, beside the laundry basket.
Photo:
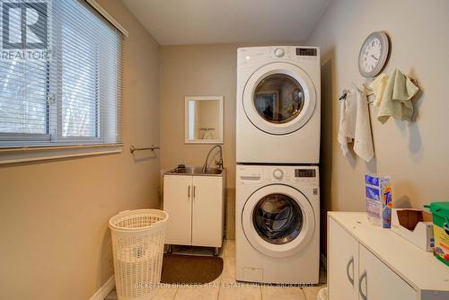
[(191, 244), (191, 185), (191, 176), (163, 176), (163, 210), (169, 214), (165, 243)]

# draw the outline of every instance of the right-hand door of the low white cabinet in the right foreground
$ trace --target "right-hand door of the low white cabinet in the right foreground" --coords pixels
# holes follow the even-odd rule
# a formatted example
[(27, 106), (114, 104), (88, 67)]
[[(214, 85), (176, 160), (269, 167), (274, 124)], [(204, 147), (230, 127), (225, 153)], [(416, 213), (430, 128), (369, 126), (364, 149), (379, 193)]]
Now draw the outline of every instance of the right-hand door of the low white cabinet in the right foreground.
[(413, 300), (417, 291), (388, 268), (373, 253), (359, 245), (360, 300)]

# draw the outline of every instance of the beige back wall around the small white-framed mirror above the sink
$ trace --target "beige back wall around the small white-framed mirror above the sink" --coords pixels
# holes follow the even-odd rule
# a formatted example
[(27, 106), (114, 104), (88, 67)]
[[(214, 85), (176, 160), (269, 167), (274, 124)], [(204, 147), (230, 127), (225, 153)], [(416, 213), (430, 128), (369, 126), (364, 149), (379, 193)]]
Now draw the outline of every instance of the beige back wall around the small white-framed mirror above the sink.
[(160, 55), (161, 167), (204, 163), (212, 146), (184, 143), (184, 97), (224, 96), (223, 154), (227, 187), (233, 188), (237, 45), (164, 46)]

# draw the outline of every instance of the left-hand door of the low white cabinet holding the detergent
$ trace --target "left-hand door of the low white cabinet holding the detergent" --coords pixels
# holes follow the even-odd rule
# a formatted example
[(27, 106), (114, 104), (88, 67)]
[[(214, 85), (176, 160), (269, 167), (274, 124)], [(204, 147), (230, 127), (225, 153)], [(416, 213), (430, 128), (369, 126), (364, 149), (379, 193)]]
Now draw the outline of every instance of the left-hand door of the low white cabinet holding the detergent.
[(357, 299), (358, 242), (331, 217), (328, 260), (329, 298)]

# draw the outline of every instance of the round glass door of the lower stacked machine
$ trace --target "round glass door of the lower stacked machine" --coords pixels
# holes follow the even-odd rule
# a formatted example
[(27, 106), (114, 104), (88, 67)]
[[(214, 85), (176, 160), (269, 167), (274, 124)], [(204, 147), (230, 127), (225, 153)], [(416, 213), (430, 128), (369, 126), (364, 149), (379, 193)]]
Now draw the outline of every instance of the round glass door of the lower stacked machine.
[(257, 251), (272, 258), (290, 257), (303, 250), (313, 236), (313, 207), (299, 190), (269, 185), (246, 201), (242, 228)]

